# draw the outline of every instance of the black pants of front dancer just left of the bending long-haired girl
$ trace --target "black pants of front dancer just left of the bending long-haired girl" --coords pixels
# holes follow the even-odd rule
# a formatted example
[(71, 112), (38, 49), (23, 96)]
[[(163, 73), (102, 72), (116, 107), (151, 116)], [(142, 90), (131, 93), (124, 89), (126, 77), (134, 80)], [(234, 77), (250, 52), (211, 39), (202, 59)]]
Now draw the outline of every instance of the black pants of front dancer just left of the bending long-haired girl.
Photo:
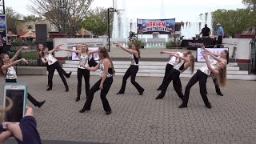
[(180, 74), (181, 73), (178, 70), (175, 70), (175, 69), (170, 70), (169, 74), (167, 74), (166, 79), (163, 81), (163, 84), (162, 84), (162, 91), (159, 94), (161, 98), (165, 96), (166, 90), (171, 81), (173, 81), (174, 90), (178, 94), (178, 97), (183, 98), (182, 84), (181, 84), (181, 79), (179, 78)]

